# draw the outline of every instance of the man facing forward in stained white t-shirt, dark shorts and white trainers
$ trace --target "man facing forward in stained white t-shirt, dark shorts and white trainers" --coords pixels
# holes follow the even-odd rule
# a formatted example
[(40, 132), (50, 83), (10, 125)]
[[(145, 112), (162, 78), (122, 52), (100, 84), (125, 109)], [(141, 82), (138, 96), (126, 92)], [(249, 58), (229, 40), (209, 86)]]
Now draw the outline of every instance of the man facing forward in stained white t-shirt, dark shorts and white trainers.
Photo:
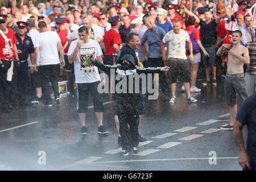
[(188, 32), (181, 29), (180, 19), (175, 19), (173, 24), (173, 30), (168, 32), (161, 44), (163, 52), (163, 60), (167, 61), (167, 52), (164, 49), (164, 44), (168, 44), (168, 64), (171, 67), (170, 72), (167, 73), (167, 82), (171, 84), (172, 98), (169, 101), (170, 104), (175, 103), (176, 93), (176, 81), (179, 72), (181, 73), (181, 81), (184, 82), (185, 92), (187, 93), (188, 103), (197, 102), (197, 100), (191, 97), (190, 93), (190, 71), (187, 63), (186, 56), (186, 42), (188, 43), (189, 51), (191, 52), (189, 58), (193, 60), (193, 47), (189, 38)]

